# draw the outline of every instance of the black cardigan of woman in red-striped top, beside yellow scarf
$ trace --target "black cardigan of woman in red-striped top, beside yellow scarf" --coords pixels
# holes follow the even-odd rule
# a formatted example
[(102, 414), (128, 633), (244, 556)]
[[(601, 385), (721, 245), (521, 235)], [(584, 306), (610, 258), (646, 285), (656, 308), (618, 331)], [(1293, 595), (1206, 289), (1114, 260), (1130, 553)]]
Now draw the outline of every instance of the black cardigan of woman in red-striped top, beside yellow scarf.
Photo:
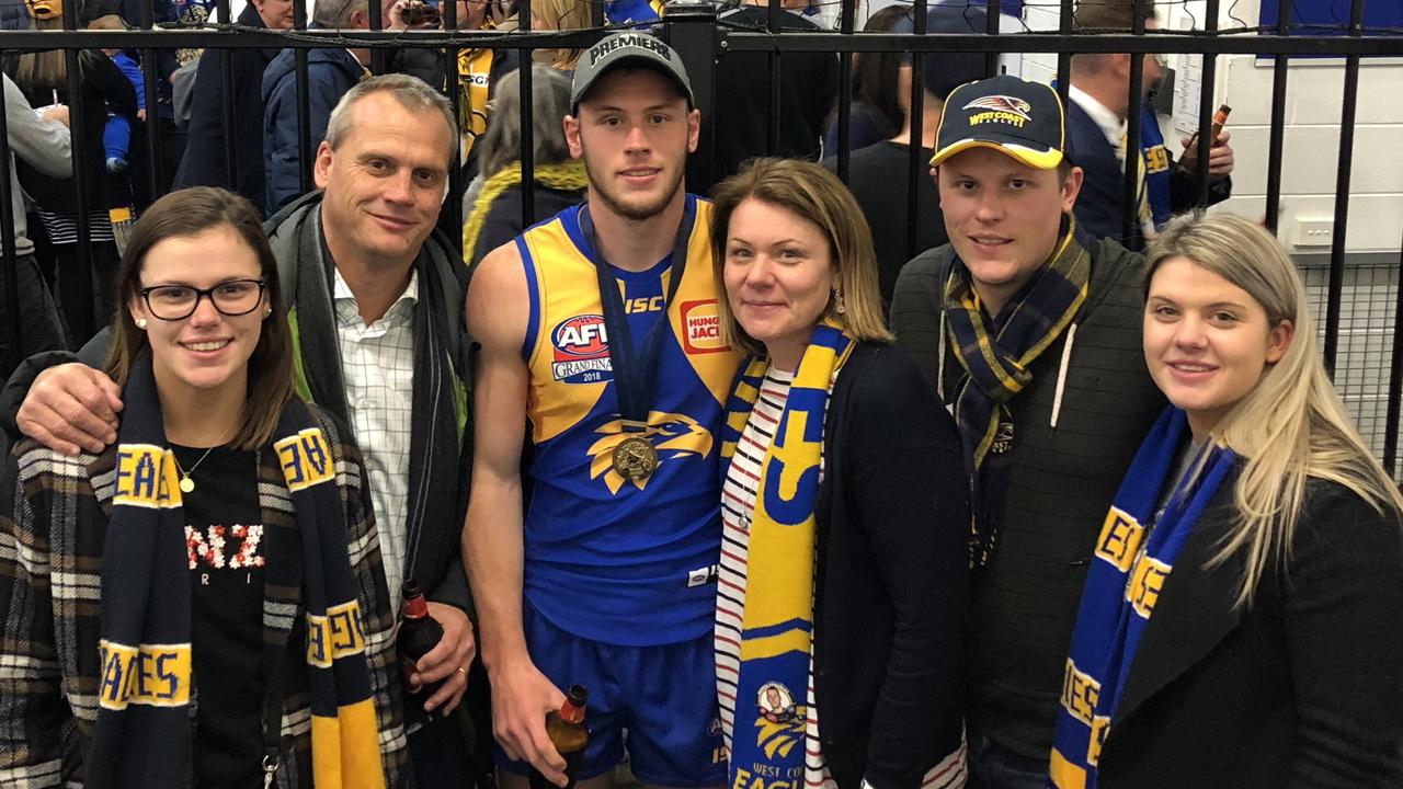
[(842, 789), (913, 789), (960, 747), (968, 482), (899, 350), (859, 344), (824, 427), (814, 601), (824, 757)]

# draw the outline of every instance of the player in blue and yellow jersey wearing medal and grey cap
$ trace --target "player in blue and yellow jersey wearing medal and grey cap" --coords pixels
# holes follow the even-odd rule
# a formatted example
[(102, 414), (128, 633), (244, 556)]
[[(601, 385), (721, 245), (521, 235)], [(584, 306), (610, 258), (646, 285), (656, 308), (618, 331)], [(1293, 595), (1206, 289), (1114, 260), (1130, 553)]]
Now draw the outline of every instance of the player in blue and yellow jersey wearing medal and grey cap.
[[(700, 115), (671, 46), (588, 49), (565, 117), (589, 192), (488, 254), (463, 536), (504, 786), (564, 782), (543, 720), (589, 691), (578, 778), (623, 758), (647, 785), (725, 779), (711, 651), (716, 431), (737, 357), (716, 333), (710, 205), (682, 188)], [(523, 421), (530, 501), (522, 511)]]

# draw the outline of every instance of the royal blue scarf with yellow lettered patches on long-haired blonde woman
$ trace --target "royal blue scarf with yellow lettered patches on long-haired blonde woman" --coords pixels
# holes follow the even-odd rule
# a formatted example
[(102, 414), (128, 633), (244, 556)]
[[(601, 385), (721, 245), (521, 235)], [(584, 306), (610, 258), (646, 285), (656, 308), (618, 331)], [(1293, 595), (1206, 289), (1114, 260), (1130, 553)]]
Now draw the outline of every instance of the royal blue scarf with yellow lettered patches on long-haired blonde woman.
[[(1188, 421), (1169, 407), (1125, 472), (1082, 590), (1062, 703), (1052, 736), (1048, 786), (1094, 789), (1101, 743), (1135, 660), (1141, 635), (1194, 524), (1233, 468), (1232, 449), (1212, 446), (1202, 463), (1172, 480)], [(1197, 473), (1194, 472), (1197, 470)], [(1174, 487), (1156, 518), (1166, 483)]]

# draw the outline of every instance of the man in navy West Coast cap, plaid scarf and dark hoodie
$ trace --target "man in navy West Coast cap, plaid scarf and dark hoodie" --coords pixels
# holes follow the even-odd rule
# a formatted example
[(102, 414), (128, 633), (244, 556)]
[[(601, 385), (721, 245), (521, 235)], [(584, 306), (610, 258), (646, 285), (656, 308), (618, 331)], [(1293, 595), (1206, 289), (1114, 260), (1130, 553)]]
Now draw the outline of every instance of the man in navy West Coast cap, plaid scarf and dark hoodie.
[(912, 260), (892, 300), (974, 469), (975, 786), (1045, 785), (1093, 542), (1164, 403), (1141, 352), (1143, 258), (1078, 229), (1068, 153), (1051, 87), (955, 88), (930, 160), (950, 243)]

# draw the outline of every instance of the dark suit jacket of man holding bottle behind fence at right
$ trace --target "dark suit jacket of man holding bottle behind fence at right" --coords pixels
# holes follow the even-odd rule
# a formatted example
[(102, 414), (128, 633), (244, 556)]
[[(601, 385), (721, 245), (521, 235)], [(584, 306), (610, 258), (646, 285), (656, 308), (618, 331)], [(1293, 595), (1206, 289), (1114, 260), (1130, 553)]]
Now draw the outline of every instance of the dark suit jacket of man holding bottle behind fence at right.
[[(1120, 160), (1115, 159), (1115, 149), (1106, 139), (1106, 133), (1096, 125), (1096, 121), (1086, 114), (1086, 110), (1076, 101), (1066, 102), (1066, 136), (1072, 143), (1072, 163), (1085, 173), (1082, 191), (1076, 195), (1076, 205), (1072, 212), (1078, 225), (1097, 239), (1113, 239), (1125, 248), (1142, 251), (1145, 248), (1145, 234), (1135, 227), (1131, 236), (1125, 236), (1122, 227), (1122, 197), (1125, 191), (1125, 175)], [(1164, 149), (1169, 154), (1169, 146)], [(1198, 198), (1198, 180), (1193, 173), (1179, 163), (1169, 163), (1169, 191), (1170, 209), (1174, 213), (1188, 211)], [(1232, 181), (1223, 178), (1215, 181), (1208, 188), (1209, 205), (1228, 199), (1232, 194)]]

